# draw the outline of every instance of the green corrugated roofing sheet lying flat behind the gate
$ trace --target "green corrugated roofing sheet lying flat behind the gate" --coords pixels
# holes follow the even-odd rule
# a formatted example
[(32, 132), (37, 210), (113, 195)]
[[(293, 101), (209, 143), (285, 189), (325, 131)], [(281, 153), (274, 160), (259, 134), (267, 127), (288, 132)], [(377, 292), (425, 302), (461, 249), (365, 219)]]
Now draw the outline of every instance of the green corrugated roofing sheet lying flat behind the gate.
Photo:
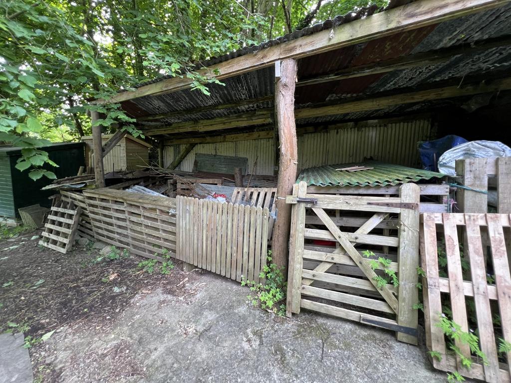
[[(359, 165), (373, 167), (374, 169), (361, 170), (358, 172), (336, 170), (343, 167)], [(301, 171), (297, 182), (305, 181), (308, 185), (317, 186), (386, 186), (429, 180), (434, 177), (444, 176), (445, 175), (442, 173), (414, 169), (413, 167), (393, 165), (378, 161), (363, 161), (309, 167)]]

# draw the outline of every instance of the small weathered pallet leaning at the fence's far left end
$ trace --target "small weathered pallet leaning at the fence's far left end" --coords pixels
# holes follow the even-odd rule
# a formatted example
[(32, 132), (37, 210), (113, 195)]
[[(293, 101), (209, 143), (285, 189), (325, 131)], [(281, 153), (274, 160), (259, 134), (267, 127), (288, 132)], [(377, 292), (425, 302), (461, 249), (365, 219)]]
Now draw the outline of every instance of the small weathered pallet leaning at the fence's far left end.
[(67, 253), (73, 247), (80, 222), (80, 213), (81, 208), (75, 207), (72, 201), (56, 201), (44, 224), (39, 245), (63, 254)]

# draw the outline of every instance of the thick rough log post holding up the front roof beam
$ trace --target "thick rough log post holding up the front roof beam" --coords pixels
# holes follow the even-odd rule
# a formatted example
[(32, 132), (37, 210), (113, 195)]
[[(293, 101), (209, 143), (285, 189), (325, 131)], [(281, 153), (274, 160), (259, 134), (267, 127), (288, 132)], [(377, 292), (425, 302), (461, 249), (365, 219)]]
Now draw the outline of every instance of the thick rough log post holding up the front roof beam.
[(291, 221), (291, 206), (286, 205), (285, 197), (293, 191), (298, 160), (294, 119), (296, 71), (296, 60), (283, 60), (281, 62), (281, 77), (275, 84), (280, 159), (278, 161), (277, 192), (275, 194), (277, 219), (273, 229), (271, 250), (273, 262), (285, 268), (288, 264), (288, 239)]

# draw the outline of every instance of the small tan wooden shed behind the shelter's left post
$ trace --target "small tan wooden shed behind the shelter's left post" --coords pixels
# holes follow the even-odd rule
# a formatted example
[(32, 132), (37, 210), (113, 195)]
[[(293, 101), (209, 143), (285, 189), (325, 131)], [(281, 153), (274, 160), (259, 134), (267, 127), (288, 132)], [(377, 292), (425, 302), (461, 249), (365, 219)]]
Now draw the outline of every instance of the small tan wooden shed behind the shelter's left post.
[[(113, 136), (113, 134), (103, 134), (102, 143), (105, 143)], [(92, 166), (92, 136), (83, 136), (82, 141), (85, 142), (85, 163)], [(103, 157), (103, 169), (105, 172), (113, 172), (119, 170), (136, 170), (138, 165), (147, 166), (149, 163), (149, 149), (151, 144), (141, 139), (126, 134), (112, 148), (112, 150)]]

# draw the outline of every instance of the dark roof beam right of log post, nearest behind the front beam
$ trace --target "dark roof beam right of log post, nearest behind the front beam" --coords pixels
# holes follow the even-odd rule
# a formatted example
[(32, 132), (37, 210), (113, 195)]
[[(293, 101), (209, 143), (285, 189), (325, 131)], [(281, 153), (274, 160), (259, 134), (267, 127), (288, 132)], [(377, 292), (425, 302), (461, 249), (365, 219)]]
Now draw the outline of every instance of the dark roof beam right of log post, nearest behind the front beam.
[(439, 64), (448, 61), (454, 56), (484, 52), (492, 48), (507, 45), (511, 45), (511, 36), (495, 37), (492, 39), (487, 39), (476, 43), (463, 43), (455, 46), (449, 46), (447, 48), (441, 48), (434, 51), (421, 52), (415, 55), (402, 56), (389, 60), (371, 62), (356, 67), (346, 68), (326, 76), (304, 80), (298, 79), (298, 83), (296, 84), (296, 86), (299, 87), (312, 84), (321, 84), (330, 81), (338, 81), (344, 79), (351, 79), (355, 77), (388, 73), (393, 70), (401, 70)]

